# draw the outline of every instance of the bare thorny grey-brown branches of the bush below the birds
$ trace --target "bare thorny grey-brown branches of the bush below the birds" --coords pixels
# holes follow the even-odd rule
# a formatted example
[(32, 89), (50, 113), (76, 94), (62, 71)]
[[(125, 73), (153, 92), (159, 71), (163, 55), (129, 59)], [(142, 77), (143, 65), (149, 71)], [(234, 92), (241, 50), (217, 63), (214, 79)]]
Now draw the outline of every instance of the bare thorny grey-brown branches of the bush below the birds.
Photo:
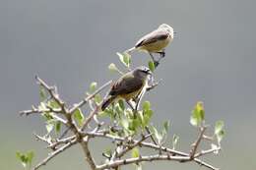
[[(185, 153), (182, 151), (178, 151), (178, 150), (160, 145), (158, 142), (155, 141), (155, 139), (152, 136), (152, 132), (150, 132), (148, 128), (146, 128), (146, 130), (148, 131), (148, 135), (142, 135), (140, 140), (135, 140), (134, 138), (129, 137), (128, 138), (129, 140), (127, 142), (127, 138), (111, 135), (109, 131), (111, 131), (112, 128), (108, 127), (109, 129), (101, 129), (101, 124), (98, 125), (98, 122), (96, 121), (96, 119), (93, 119), (98, 113), (98, 111), (100, 110), (100, 104), (96, 105), (95, 108), (92, 109), (91, 113), (86, 117), (81, 127), (78, 127), (76, 125), (75, 120), (73, 118), (73, 113), (75, 110), (89, 103), (90, 100), (92, 100), (97, 93), (101, 92), (107, 85), (110, 85), (112, 83), (111, 81), (107, 82), (104, 85), (101, 85), (99, 88), (96, 89), (94, 93), (83, 98), (82, 101), (78, 102), (77, 104), (74, 104), (73, 107), (69, 108), (67, 104), (64, 102), (64, 100), (60, 98), (55, 87), (47, 85), (38, 77), (35, 77), (35, 79), (39, 85), (41, 85), (44, 89), (46, 89), (50, 97), (53, 98), (58, 103), (60, 108), (49, 107), (46, 109), (38, 109), (32, 106), (32, 110), (25, 110), (20, 112), (20, 114), (29, 116), (31, 114), (36, 114), (36, 113), (44, 114), (45, 112), (51, 112), (52, 113), (51, 116), (57, 121), (60, 121), (62, 124), (66, 125), (68, 130), (70, 130), (73, 134), (70, 137), (67, 137), (65, 139), (59, 138), (55, 140), (48, 140), (47, 137), (45, 136), (41, 137), (34, 134), (35, 138), (39, 141), (45, 142), (47, 144), (47, 148), (51, 148), (52, 152), (50, 152), (47, 157), (45, 157), (41, 162), (39, 162), (36, 166), (34, 166), (33, 170), (38, 169), (42, 165), (45, 165), (53, 157), (57, 156), (59, 153), (63, 152), (64, 150), (68, 149), (69, 147), (71, 147), (76, 143), (80, 143), (80, 145), (82, 146), (83, 151), (85, 153), (86, 161), (90, 164), (90, 167), (92, 170), (111, 169), (111, 168), (117, 168), (119, 166), (132, 164), (132, 163), (140, 163), (144, 161), (157, 161), (157, 160), (172, 160), (172, 161), (179, 161), (179, 162), (193, 161), (201, 166), (208, 167), (209, 169), (219, 170), (218, 168), (199, 159), (199, 157), (202, 157), (209, 153), (217, 152), (221, 149), (221, 146), (218, 146), (217, 148), (197, 151), (199, 148), (200, 142), (202, 142), (202, 140), (206, 139), (207, 137), (204, 134), (206, 131), (206, 127), (204, 126), (200, 128), (199, 137), (196, 140), (196, 142), (192, 144), (192, 148), (189, 153)], [(151, 90), (158, 84), (159, 83), (149, 86), (146, 90)], [(104, 96), (104, 99), (105, 97), (106, 95)], [(96, 121), (96, 128), (94, 129), (94, 131), (91, 131), (91, 132), (89, 130), (86, 131), (86, 128), (88, 127), (89, 123), (91, 123), (93, 120)], [(110, 161), (106, 161), (106, 163), (103, 163), (103, 164), (96, 164), (96, 161), (89, 148), (89, 142), (91, 141), (91, 139), (94, 139), (94, 138), (109, 139), (112, 142), (121, 142), (122, 145), (121, 147), (117, 145), (116, 152), (114, 153), (114, 155), (112, 155), (112, 157), (107, 157), (109, 160), (111, 158)], [(148, 139), (151, 139), (151, 141), (146, 142)], [(137, 146), (147, 147), (153, 150), (159, 150), (160, 153), (155, 155), (141, 155), (139, 157), (122, 158), (124, 155), (126, 155), (127, 152), (129, 152), (131, 149)], [(117, 147), (119, 148), (118, 151), (117, 151)]]

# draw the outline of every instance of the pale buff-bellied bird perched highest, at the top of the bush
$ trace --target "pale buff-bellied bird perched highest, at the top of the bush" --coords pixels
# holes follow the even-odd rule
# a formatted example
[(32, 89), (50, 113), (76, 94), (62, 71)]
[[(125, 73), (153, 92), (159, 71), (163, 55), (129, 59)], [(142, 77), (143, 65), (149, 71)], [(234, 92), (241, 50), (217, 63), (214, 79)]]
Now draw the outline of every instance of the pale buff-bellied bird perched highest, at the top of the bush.
[(156, 60), (153, 53), (159, 53), (163, 58), (165, 56), (164, 48), (173, 40), (174, 30), (166, 24), (161, 24), (159, 28), (146, 34), (140, 38), (134, 47), (125, 50), (125, 53), (130, 54), (133, 51), (145, 51), (150, 54), (156, 66), (160, 60)]

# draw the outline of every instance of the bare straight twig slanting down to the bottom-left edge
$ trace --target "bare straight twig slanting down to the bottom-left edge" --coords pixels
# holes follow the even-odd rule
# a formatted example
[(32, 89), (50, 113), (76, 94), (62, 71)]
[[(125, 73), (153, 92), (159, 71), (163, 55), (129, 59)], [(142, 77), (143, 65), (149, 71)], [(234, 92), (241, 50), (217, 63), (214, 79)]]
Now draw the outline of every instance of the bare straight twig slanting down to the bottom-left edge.
[(67, 148), (69, 148), (70, 146), (72, 146), (73, 144), (75, 144), (77, 141), (74, 140), (72, 142), (68, 142), (67, 144), (63, 145), (62, 147), (58, 148), (57, 150), (51, 152), (45, 159), (43, 159), (40, 163), (38, 163), (33, 170), (38, 169), (39, 167), (41, 167), (42, 165), (46, 165), (46, 163), (52, 159), (53, 157), (55, 157), (56, 155), (58, 155), (59, 153), (63, 152), (64, 150), (66, 150)]

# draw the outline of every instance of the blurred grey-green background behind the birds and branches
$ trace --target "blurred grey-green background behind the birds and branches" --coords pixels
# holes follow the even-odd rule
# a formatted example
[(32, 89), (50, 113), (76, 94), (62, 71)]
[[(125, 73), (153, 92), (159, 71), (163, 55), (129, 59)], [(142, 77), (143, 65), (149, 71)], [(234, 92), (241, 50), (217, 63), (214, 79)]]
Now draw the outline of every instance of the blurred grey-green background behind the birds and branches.
[[(34, 163), (47, 154), (32, 136), (45, 131), (41, 118), (18, 115), (39, 101), (34, 75), (58, 85), (66, 101), (77, 102), (91, 82), (117, 77), (107, 70), (109, 63), (119, 64), (115, 52), (161, 23), (178, 33), (156, 72), (162, 84), (144, 97), (154, 103), (155, 124), (169, 119), (171, 133), (180, 136), (178, 148), (187, 150), (196, 136), (190, 113), (203, 100), (207, 122), (222, 119), (226, 130), (221, 155), (206, 160), (224, 170), (255, 169), (255, 5), (253, 0), (0, 0), (0, 169), (22, 168), (16, 150), (34, 150)], [(149, 59), (133, 54), (136, 66)], [(103, 147), (98, 141), (92, 146)], [(144, 166), (205, 169), (175, 162)], [(79, 146), (42, 169), (74, 168), (88, 169)]]

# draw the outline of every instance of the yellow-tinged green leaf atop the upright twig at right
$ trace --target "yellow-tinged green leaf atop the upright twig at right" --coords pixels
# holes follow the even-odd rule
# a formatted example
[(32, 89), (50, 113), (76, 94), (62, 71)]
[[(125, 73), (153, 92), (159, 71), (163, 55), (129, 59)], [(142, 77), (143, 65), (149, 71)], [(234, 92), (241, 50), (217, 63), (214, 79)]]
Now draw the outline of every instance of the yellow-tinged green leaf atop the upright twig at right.
[(194, 107), (192, 111), (192, 115), (190, 117), (191, 125), (198, 127), (201, 125), (202, 121), (205, 119), (205, 110), (203, 102), (199, 101)]

